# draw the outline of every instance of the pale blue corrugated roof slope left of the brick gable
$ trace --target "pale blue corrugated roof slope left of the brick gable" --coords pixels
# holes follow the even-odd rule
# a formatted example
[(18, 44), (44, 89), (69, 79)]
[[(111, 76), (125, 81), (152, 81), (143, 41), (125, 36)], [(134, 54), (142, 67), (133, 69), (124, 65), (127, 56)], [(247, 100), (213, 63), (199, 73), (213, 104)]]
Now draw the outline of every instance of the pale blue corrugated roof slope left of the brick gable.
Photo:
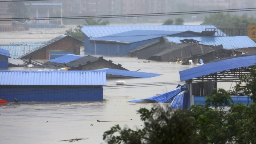
[(11, 58), (17, 59), (43, 45), (0, 45), (0, 49), (10, 51)]

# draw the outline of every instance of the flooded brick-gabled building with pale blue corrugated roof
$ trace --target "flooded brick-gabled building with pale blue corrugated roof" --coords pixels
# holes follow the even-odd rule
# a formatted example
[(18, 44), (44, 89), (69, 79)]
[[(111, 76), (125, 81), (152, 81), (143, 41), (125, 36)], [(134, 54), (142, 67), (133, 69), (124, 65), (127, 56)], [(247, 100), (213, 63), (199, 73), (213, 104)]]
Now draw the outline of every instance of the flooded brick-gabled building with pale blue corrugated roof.
[(61, 35), (43, 42), (11, 42), (0, 45), (9, 50), (11, 59), (54, 59), (66, 54), (80, 55), (82, 41), (68, 35)]

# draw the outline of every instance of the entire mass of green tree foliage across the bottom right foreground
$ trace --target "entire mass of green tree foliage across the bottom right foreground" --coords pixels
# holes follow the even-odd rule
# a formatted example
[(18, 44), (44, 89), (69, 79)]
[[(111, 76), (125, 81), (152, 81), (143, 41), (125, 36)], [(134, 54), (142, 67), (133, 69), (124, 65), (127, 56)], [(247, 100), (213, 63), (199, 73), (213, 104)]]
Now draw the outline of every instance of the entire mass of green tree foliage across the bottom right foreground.
[(105, 131), (108, 144), (256, 144), (256, 104), (233, 104), (229, 91), (214, 89), (205, 106), (173, 110), (140, 108), (143, 129)]

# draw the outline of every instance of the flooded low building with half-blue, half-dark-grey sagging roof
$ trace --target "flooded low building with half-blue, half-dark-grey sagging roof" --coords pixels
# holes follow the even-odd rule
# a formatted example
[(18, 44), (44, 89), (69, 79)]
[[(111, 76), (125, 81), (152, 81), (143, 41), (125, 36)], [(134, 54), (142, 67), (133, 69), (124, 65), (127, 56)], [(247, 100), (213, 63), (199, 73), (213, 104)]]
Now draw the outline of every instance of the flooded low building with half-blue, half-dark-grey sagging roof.
[(46, 68), (46, 69), (60, 69), (67, 67), (68, 70), (79, 70), (79, 71), (88, 71), (93, 69), (102, 69), (102, 68), (112, 68), (126, 70), (122, 67), (121, 64), (114, 64), (112, 60), (105, 60), (103, 57), (93, 57), (90, 55), (63, 55), (62, 57), (49, 60), (40, 67), (36, 68)]

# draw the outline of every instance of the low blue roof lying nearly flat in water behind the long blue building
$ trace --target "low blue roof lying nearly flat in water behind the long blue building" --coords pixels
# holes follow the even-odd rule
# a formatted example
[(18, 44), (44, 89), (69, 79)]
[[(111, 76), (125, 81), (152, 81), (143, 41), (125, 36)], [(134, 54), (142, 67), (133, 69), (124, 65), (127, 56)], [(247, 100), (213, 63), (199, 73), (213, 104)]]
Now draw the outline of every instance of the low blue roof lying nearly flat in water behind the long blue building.
[(96, 69), (93, 71), (105, 71), (107, 75), (127, 76), (127, 77), (136, 77), (136, 78), (150, 78), (150, 77), (156, 77), (161, 75), (157, 73), (134, 72), (134, 71), (119, 70), (119, 69), (111, 69), (111, 68)]

